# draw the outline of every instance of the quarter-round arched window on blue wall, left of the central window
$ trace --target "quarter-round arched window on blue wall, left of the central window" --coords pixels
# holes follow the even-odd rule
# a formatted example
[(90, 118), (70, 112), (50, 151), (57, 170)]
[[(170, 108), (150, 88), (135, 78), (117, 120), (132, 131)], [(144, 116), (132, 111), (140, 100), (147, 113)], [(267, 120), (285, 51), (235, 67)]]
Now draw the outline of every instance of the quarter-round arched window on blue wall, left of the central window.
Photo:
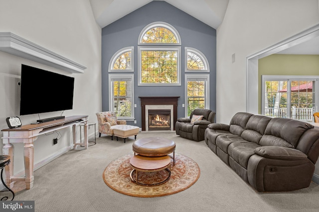
[(134, 71), (134, 47), (125, 47), (111, 58), (109, 72)]

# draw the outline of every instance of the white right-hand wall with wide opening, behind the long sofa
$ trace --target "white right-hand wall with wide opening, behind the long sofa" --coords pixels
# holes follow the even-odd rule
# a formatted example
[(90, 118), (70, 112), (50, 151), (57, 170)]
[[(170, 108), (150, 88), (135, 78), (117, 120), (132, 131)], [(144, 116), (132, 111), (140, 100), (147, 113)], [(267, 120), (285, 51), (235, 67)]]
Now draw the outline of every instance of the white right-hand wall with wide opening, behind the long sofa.
[(246, 111), (246, 58), (318, 24), (318, 8), (318, 0), (229, 0), (217, 29), (217, 123)]

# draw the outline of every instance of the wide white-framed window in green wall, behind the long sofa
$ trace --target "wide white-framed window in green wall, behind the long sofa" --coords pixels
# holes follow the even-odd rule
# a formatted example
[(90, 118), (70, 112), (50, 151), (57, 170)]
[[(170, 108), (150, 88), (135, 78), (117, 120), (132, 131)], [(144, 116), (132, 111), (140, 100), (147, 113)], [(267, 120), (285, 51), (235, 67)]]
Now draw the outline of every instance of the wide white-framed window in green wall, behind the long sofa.
[(318, 76), (262, 76), (263, 114), (312, 121), (317, 111)]

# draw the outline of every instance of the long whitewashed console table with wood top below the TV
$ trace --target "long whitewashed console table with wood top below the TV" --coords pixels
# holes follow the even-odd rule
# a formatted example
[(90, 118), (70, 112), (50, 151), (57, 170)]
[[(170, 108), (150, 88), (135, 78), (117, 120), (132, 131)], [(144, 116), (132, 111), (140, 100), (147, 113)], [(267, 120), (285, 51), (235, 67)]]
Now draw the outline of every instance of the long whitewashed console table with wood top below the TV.
[[(88, 116), (70, 116), (64, 119), (54, 120), (50, 122), (23, 125), (19, 128), (4, 129), (3, 132), (3, 154), (9, 155), (11, 162), (9, 165), (5, 166), (5, 182), (10, 187), (13, 188), (13, 184), (16, 181), (25, 181), (26, 189), (33, 187), (33, 141), (35, 141), (38, 136), (54, 132), (63, 128), (71, 127), (73, 131), (73, 143), (74, 149), (77, 145), (83, 145), (83, 143), (76, 142), (76, 125), (79, 123), (84, 123), (84, 147), (88, 148)], [(25, 177), (14, 177), (13, 176), (13, 149), (12, 143), (24, 143), (24, 170)]]

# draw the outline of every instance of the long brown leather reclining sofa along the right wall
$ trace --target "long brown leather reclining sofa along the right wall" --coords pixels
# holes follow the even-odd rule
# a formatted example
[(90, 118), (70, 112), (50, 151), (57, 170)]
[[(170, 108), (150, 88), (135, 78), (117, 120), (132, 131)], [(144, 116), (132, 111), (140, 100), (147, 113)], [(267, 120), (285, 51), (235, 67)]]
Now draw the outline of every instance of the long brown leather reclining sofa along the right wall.
[(204, 137), (259, 192), (309, 187), (319, 156), (319, 129), (292, 119), (239, 112), (229, 125), (209, 124)]

